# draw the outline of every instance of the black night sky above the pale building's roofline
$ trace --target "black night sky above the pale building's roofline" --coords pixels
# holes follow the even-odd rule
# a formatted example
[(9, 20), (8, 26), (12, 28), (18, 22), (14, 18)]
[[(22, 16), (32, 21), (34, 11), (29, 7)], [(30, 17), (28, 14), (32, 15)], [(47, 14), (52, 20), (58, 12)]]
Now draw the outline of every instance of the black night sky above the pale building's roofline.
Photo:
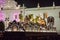
[(60, 0), (15, 0), (22, 6), (24, 3), (26, 7), (33, 8), (37, 7), (37, 4), (39, 3), (41, 7), (47, 7), (52, 6), (53, 1), (55, 2), (56, 6), (60, 6)]

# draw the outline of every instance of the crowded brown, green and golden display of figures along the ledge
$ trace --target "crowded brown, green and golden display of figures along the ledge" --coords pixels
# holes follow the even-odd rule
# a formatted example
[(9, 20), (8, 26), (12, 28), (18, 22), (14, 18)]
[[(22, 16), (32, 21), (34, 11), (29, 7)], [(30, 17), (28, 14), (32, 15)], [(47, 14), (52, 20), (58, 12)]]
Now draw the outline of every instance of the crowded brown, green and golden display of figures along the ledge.
[[(26, 15), (23, 19), (22, 14), (19, 15), (20, 22), (14, 20), (13, 22), (9, 22), (6, 30), (11, 29), (12, 31), (26, 31), (26, 30), (50, 30), (53, 29), (54, 25), (54, 17), (47, 17), (47, 22), (45, 18), (41, 18), (40, 16), (36, 16), (34, 19), (33, 14)], [(23, 21), (24, 20), (24, 21)]]

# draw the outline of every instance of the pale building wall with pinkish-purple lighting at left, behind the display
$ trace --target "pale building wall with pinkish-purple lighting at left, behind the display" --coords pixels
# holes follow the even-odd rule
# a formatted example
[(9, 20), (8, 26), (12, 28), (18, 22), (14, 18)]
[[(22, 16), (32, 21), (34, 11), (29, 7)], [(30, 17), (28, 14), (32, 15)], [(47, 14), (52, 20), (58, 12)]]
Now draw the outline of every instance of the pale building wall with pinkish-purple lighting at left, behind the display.
[[(60, 32), (60, 6), (55, 6), (53, 2), (53, 6), (51, 7), (38, 7), (37, 8), (25, 8), (17, 5), (14, 0), (6, 0), (5, 3), (0, 5), (0, 21), (3, 20), (5, 22), (5, 26), (8, 26), (8, 21), (11, 22), (16, 20), (19, 22), (19, 14), (22, 11), (23, 16), (34, 14), (34, 17), (41, 16), (43, 18), (43, 14), (46, 13), (47, 16), (53, 16), (55, 19), (54, 27), (57, 28), (57, 31)], [(2, 16), (2, 17), (1, 17)], [(15, 19), (15, 16), (17, 18)], [(2, 19), (3, 18), (3, 19)], [(8, 20), (7, 20), (8, 19)], [(47, 21), (47, 19), (46, 19)]]

